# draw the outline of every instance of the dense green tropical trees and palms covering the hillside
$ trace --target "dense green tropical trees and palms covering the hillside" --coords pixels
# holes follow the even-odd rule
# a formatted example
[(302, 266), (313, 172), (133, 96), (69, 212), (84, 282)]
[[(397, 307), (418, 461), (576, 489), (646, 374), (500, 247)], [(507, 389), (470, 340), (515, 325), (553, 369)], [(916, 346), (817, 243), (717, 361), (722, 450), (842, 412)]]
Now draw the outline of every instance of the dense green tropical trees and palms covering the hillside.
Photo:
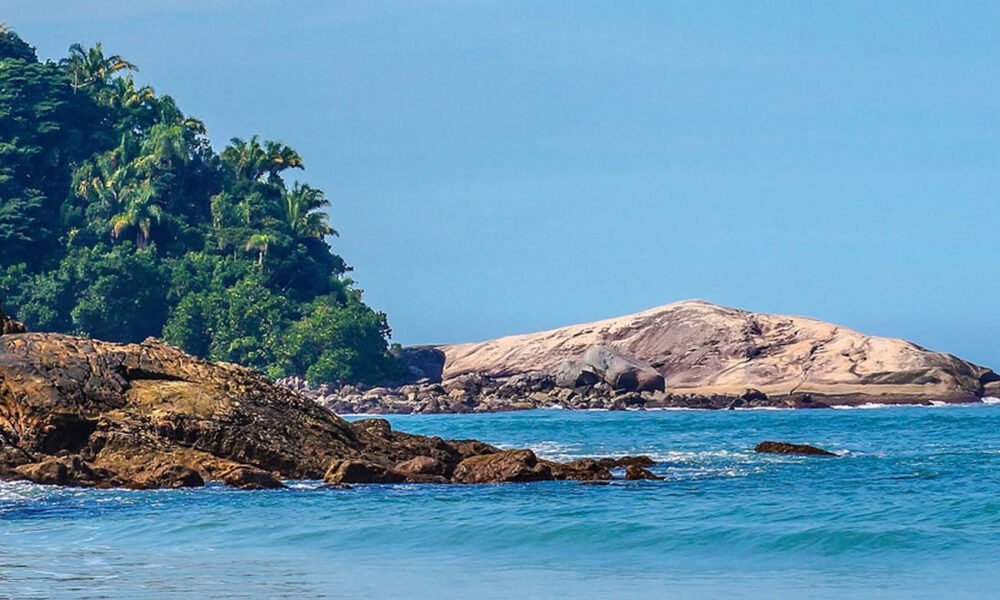
[(374, 381), (398, 365), (327, 243), (295, 150), (213, 150), (201, 122), (100, 44), (39, 62), (0, 27), (0, 298), (29, 328), (162, 336), (271, 376)]

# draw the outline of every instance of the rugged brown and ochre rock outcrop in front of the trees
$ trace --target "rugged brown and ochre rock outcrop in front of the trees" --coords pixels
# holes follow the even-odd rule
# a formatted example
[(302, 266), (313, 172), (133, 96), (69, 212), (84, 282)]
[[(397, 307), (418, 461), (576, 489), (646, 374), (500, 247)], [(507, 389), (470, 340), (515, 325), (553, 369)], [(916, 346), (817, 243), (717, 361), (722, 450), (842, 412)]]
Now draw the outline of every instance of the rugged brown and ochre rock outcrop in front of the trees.
[[(600, 474), (600, 473), (598, 473)], [(0, 478), (77, 486), (242, 489), (595, 476), (530, 451), (348, 423), (263, 376), (153, 339), (0, 337)]]

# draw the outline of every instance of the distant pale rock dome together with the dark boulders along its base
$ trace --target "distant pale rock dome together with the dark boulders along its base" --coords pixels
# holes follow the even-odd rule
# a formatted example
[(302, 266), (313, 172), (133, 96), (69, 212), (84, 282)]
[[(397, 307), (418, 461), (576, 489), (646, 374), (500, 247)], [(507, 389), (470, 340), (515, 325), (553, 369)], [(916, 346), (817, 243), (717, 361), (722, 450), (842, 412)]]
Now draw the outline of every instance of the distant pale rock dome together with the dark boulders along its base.
[(279, 383), (338, 413), (825, 408), (975, 402), (991, 369), (905, 340), (702, 301), (474, 344), (396, 350), (406, 381)]

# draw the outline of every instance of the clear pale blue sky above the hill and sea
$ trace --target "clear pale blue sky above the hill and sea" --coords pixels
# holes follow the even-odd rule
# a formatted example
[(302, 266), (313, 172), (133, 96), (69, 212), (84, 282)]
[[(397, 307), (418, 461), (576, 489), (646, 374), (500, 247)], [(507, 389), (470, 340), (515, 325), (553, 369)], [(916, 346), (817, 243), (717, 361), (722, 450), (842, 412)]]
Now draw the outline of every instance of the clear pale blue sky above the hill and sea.
[(401, 342), (698, 297), (1000, 367), (995, 2), (0, 5), (299, 149)]

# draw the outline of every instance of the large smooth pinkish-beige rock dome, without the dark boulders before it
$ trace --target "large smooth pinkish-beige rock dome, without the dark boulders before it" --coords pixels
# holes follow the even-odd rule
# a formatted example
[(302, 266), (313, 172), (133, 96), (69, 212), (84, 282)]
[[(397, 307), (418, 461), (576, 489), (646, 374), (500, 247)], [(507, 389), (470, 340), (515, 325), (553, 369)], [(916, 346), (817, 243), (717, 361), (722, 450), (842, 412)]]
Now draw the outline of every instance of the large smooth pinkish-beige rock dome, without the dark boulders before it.
[(542, 372), (569, 373), (561, 383), (580, 385), (567, 361), (579, 365), (588, 352), (606, 348), (649, 365), (673, 394), (737, 397), (753, 388), (769, 398), (808, 394), (827, 404), (969, 401), (998, 380), (989, 369), (905, 340), (702, 301), (440, 348), (445, 381), (468, 373), (499, 379)]

